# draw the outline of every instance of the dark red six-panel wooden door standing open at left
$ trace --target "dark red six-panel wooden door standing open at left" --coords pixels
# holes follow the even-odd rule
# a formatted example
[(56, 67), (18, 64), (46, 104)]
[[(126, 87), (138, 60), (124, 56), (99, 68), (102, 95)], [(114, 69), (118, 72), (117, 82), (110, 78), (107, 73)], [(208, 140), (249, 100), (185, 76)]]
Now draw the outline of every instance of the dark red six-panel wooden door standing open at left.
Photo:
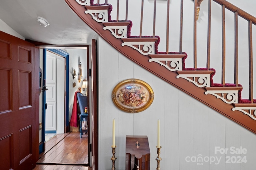
[(0, 170), (38, 160), (39, 60), (31, 43), (0, 31)]

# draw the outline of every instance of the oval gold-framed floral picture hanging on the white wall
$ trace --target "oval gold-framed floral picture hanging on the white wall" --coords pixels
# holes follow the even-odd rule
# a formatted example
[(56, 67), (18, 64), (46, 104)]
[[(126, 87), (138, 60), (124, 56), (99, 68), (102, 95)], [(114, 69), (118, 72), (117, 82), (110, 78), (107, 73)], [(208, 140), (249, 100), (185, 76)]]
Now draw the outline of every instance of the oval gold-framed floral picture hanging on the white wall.
[(120, 110), (138, 113), (152, 104), (154, 92), (146, 82), (132, 78), (123, 80), (114, 87), (112, 100)]

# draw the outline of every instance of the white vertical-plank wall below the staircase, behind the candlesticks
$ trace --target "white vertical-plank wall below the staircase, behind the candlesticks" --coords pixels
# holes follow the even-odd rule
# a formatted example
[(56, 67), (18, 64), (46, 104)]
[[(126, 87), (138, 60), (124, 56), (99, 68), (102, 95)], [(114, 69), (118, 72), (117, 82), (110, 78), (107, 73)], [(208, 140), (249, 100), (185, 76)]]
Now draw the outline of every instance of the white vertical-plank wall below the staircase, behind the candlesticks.
[[(116, 119), (116, 169), (125, 170), (126, 135), (147, 135), (150, 169), (156, 169), (157, 120), (161, 122), (162, 170), (253, 170), (256, 167), (256, 135), (181, 90), (144, 70), (118, 53), (103, 39), (99, 43), (99, 169), (112, 167), (112, 119)], [(131, 49), (132, 50), (132, 49)], [(128, 78), (147, 82), (154, 101), (145, 111), (126, 113), (112, 102), (116, 84)], [(193, 85), (193, 84), (191, 84)], [(216, 152), (228, 149), (227, 154)], [(231, 154), (230, 147), (247, 149)], [(232, 158), (226, 163), (226, 156)], [(246, 163), (232, 163), (246, 156)], [(197, 161), (202, 157), (203, 161)], [(208, 158), (211, 160), (208, 161)]]

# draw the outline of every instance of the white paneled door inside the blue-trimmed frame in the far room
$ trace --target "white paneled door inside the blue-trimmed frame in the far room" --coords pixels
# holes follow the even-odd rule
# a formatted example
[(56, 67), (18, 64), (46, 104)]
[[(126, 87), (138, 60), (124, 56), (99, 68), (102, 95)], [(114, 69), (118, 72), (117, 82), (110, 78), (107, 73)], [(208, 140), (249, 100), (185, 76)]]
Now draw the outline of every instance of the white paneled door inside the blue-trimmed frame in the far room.
[(65, 59), (46, 53), (46, 131), (64, 133)]

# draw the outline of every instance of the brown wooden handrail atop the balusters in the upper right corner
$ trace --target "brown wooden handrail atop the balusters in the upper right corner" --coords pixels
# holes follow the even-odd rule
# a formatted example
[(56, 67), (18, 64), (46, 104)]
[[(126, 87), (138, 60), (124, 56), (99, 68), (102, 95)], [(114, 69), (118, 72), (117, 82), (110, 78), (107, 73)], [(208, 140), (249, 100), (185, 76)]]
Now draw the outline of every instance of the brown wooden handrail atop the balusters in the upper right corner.
[(240, 8), (238, 8), (237, 6), (234, 6), (233, 4), (231, 4), (230, 2), (226, 1), (226, 0), (213, 0), (214, 2), (217, 2), (220, 5), (224, 5), (228, 10), (232, 11), (232, 12), (237, 12), (238, 16), (244, 18), (245, 20), (248, 21), (252, 21), (252, 23), (254, 25), (256, 25), (256, 18), (250, 14), (248, 14), (247, 12), (245, 12), (244, 10), (241, 10)]

